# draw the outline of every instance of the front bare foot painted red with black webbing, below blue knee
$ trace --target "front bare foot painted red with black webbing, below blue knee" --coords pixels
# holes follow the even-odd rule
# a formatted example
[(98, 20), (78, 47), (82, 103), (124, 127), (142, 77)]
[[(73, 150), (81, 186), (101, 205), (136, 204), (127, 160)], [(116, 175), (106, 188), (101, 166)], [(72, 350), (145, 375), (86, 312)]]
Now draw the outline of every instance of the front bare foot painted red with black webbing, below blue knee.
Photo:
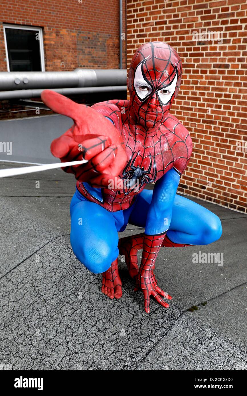
[(119, 276), (117, 259), (113, 261), (109, 270), (102, 274), (101, 291), (110, 299), (122, 297), (122, 282)]

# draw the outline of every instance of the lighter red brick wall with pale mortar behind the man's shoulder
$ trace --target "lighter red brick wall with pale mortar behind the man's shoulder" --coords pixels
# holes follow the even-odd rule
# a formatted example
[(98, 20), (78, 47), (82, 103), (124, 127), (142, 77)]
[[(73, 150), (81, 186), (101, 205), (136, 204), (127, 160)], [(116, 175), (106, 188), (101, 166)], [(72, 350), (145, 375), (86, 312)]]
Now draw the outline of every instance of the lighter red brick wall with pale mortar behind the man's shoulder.
[[(144, 42), (161, 40), (183, 63), (172, 113), (193, 154), (180, 192), (247, 212), (246, 0), (127, 0), (127, 63)], [(216, 31), (218, 41), (193, 32)], [(195, 40), (193, 40), (193, 38)], [(211, 38), (211, 37), (207, 37)], [(236, 151), (237, 142), (246, 149)]]

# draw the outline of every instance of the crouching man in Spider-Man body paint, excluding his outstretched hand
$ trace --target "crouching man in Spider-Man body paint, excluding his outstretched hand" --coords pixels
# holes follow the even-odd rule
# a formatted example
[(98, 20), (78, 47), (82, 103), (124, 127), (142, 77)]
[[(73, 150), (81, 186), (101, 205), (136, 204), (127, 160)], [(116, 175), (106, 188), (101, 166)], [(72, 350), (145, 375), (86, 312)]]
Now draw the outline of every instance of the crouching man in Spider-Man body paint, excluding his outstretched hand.
[[(92, 187), (84, 181), (82, 172), (71, 201), (71, 246), (77, 258), (90, 271), (103, 272), (102, 292), (119, 298), (117, 257), (124, 254), (136, 289), (144, 293), (146, 312), (151, 295), (164, 307), (168, 304), (161, 297), (171, 299), (157, 286), (153, 273), (159, 249), (209, 244), (222, 232), (216, 215), (176, 194), (192, 150), (187, 129), (169, 114), (181, 78), (181, 59), (168, 44), (151, 42), (136, 51), (128, 74), (130, 101), (102, 102), (93, 109), (119, 131), (127, 155), (119, 177), (137, 181), (137, 187), (95, 188), (96, 183)], [(151, 182), (153, 191), (144, 189)], [(118, 240), (117, 232), (127, 223), (145, 227), (145, 232)]]

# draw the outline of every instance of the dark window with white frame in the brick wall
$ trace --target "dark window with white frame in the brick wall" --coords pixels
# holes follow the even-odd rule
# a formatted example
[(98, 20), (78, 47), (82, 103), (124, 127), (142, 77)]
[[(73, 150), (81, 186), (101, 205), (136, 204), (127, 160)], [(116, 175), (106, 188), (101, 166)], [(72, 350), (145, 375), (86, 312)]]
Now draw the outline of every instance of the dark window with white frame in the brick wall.
[(5, 28), (11, 72), (41, 71), (38, 30)]

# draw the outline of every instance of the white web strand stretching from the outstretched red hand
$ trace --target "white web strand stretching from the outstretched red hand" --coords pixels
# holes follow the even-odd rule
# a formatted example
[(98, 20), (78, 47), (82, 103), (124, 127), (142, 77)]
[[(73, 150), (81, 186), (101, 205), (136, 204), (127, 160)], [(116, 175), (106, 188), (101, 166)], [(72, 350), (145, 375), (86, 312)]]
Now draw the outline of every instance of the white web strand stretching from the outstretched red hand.
[(0, 178), (25, 175), (25, 173), (47, 171), (49, 169), (64, 168), (65, 166), (81, 165), (81, 164), (86, 164), (86, 162), (88, 161), (83, 160), (83, 161), (59, 162), (58, 164), (24, 166), (23, 168), (0, 169)]

